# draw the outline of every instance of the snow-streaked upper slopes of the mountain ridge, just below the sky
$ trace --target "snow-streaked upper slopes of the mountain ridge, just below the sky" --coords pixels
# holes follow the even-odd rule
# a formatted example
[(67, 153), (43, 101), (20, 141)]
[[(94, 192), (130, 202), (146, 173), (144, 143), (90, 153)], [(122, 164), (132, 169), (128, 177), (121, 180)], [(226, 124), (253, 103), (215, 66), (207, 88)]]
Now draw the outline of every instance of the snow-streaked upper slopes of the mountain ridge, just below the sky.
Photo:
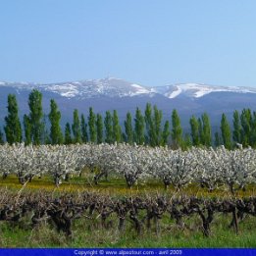
[(174, 99), (179, 96), (200, 98), (213, 92), (256, 93), (256, 88), (251, 87), (214, 86), (200, 83), (147, 87), (115, 77), (49, 84), (0, 81), (0, 87), (13, 87), (18, 92), (38, 88), (41, 91), (53, 92), (62, 97), (77, 97), (79, 99), (102, 96), (123, 98), (145, 95), (153, 97), (156, 94)]

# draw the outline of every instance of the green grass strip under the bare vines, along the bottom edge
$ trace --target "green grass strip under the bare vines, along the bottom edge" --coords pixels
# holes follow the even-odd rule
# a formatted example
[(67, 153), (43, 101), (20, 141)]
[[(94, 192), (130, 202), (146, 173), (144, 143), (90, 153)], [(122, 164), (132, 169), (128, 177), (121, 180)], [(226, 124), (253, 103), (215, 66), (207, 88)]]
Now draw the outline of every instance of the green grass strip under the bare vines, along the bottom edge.
[(239, 234), (229, 229), (227, 218), (219, 217), (213, 224), (210, 237), (204, 237), (199, 227), (199, 220), (191, 219), (189, 228), (179, 230), (176, 225), (166, 222), (161, 227), (161, 234), (154, 230), (143, 230), (138, 236), (133, 230), (124, 233), (115, 228), (95, 229), (86, 220), (74, 223), (74, 234), (67, 237), (58, 233), (50, 225), (42, 225), (39, 229), (30, 230), (26, 224), (19, 226), (0, 223), (0, 247), (256, 247), (256, 222), (246, 220), (240, 224)]

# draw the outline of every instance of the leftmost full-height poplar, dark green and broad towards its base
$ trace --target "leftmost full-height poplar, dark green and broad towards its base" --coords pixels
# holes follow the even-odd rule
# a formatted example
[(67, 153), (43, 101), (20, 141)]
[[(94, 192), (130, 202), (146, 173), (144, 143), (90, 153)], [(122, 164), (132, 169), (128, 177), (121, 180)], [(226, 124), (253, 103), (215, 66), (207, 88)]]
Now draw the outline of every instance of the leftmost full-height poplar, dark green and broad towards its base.
[(18, 115), (18, 104), (14, 94), (8, 95), (8, 116), (5, 117), (6, 126), (4, 128), (6, 140), (9, 144), (22, 142), (22, 125)]

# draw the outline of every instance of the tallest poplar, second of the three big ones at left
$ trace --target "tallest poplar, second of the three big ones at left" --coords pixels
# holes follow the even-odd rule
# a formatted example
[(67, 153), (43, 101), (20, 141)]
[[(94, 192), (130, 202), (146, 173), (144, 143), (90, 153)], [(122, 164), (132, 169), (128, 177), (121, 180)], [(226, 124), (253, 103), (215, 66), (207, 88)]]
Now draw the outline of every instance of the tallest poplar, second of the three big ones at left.
[(42, 111), (42, 94), (36, 89), (33, 89), (28, 97), (29, 106), (29, 123), (31, 127), (31, 142), (39, 145), (43, 131), (43, 111)]

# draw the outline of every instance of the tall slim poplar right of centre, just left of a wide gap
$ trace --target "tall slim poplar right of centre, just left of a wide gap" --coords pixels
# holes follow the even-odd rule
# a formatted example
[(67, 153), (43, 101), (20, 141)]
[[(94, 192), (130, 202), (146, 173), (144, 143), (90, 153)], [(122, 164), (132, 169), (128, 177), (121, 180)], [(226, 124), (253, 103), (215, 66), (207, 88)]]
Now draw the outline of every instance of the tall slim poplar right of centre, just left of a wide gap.
[(180, 125), (179, 114), (176, 109), (172, 113), (172, 139), (174, 148), (179, 148), (182, 142), (182, 128)]

